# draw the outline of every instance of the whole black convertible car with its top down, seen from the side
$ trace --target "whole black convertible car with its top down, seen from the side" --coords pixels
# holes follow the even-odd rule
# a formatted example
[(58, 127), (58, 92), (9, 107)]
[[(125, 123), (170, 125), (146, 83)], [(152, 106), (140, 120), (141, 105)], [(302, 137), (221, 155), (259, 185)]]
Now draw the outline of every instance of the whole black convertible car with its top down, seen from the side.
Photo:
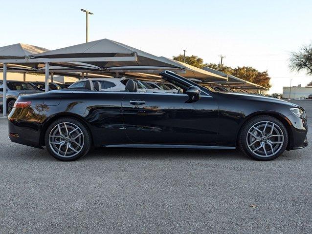
[(120, 92), (101, 91), (86, 81), (21, 96), (8, 117), (9, 138), (45, 147), (70, 161), (90, 147), (235, 149), (271, 160), (307, 143), (304, 109), (276, 98), (212, 92), (169, 71), (160, 73), (177, 94), (136, 92), (129, 80)]

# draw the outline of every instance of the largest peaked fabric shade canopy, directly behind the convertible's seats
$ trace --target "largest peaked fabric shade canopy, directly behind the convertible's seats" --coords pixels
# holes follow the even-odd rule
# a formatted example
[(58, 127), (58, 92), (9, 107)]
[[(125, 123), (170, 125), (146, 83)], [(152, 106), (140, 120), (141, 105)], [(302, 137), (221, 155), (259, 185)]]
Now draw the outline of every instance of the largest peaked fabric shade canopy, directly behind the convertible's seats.
[(95, 70), (112, 70), (113, 72), (123, 71), (138, 71), (138, 70), (181, 70), (183, 69), (179, 64), (169, 60), (163, 61), (154, 55), (136, 49), (134, 47), (122, 44), (110, 39), (101, 39), (90, 41), (78, 45), (73, 45), (57, 50), (47, 51), (33, 55), (34, 58), (97, 58), (97, 57), (134, 57), (136, 60), (124, 61), (81, 61), (86, 65), (92, 65)]

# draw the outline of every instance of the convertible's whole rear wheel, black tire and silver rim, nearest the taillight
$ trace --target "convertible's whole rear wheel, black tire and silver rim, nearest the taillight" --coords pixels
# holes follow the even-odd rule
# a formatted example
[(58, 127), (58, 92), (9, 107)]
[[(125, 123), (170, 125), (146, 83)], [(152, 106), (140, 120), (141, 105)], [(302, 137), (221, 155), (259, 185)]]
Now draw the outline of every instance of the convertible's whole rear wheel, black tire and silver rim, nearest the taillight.
[(59, 118), (46, 129), (45, 147), (58, 160), (74, 161), (89, 152), (91, 135), (81, 121), (71, 117)]

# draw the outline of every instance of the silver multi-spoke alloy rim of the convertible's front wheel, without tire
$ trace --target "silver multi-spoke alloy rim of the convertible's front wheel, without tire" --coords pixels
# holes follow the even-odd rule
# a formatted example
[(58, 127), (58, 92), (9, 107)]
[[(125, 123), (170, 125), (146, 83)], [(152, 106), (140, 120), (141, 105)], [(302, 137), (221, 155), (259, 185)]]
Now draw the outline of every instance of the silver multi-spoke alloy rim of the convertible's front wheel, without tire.
[(270, 157), (276, 155), (283, 147), (284, 134), (276, 123), (261, 121), (249, 128), (246, 143), (252, 154)]

